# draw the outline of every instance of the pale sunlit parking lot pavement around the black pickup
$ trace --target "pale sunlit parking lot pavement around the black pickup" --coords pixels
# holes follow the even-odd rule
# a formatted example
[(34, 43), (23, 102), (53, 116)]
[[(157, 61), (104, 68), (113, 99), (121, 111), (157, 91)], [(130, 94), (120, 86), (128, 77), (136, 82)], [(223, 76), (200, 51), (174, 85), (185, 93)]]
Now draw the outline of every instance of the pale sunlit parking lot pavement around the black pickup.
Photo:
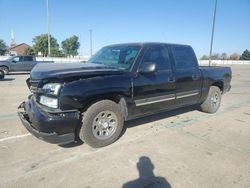
[(64, 147), (30, 135), (17, 106), (28, 74), (0, 81), (0, 187), (250, 187), (250, 65), (232, 66), (216, 114), (190, 107), (126, 122), (114, 144)]

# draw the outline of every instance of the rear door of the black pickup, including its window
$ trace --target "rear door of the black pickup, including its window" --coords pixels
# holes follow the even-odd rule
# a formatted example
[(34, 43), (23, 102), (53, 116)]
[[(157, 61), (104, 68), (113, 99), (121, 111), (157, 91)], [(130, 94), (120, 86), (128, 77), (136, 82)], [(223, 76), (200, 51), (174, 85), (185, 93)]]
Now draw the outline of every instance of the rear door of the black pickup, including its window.
[(201, 94), (202, 76), (190, 46), (171, 47), (176, 76), (176, 105), (196, 104)]

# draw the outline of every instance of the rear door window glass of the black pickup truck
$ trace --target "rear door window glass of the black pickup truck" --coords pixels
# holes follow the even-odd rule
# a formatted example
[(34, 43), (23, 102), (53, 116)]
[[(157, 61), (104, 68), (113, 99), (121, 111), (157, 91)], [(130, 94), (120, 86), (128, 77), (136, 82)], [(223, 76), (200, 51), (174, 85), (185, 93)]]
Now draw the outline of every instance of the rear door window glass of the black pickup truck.
[(172, 51), (177, 69), (190, 69), (197, 66), (194, 52), (190, 47), (176, 46)]

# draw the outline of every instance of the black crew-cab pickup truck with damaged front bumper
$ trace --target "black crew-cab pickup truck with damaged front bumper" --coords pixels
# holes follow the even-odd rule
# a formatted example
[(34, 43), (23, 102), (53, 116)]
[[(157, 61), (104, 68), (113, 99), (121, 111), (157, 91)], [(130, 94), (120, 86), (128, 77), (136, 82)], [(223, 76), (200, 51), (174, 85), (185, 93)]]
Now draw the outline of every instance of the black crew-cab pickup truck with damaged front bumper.
[(215, 113), (230, 90), (229, 67), (199, 67), (192, 47), (130, 43), (102, 48), (87, 63), (37, 64), (31, 94), (19, 106), (36, 137), (102, 147), (119, 138), (124, 121), (198, 105)]

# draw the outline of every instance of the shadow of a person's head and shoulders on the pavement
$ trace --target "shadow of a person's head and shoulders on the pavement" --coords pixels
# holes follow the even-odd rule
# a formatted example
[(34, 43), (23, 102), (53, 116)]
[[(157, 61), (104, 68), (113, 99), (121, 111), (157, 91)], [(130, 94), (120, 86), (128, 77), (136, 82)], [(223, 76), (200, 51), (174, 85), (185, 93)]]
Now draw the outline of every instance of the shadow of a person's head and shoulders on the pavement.
[(137, 188), (137, 187), (157, 187), (171, 188), (169, 182), (160, 176), (154, 175), (154, 164), (147, 156), (141, 156), (136, 163), (139, 177), (135, 180), (124, 183), (122, 188)]

